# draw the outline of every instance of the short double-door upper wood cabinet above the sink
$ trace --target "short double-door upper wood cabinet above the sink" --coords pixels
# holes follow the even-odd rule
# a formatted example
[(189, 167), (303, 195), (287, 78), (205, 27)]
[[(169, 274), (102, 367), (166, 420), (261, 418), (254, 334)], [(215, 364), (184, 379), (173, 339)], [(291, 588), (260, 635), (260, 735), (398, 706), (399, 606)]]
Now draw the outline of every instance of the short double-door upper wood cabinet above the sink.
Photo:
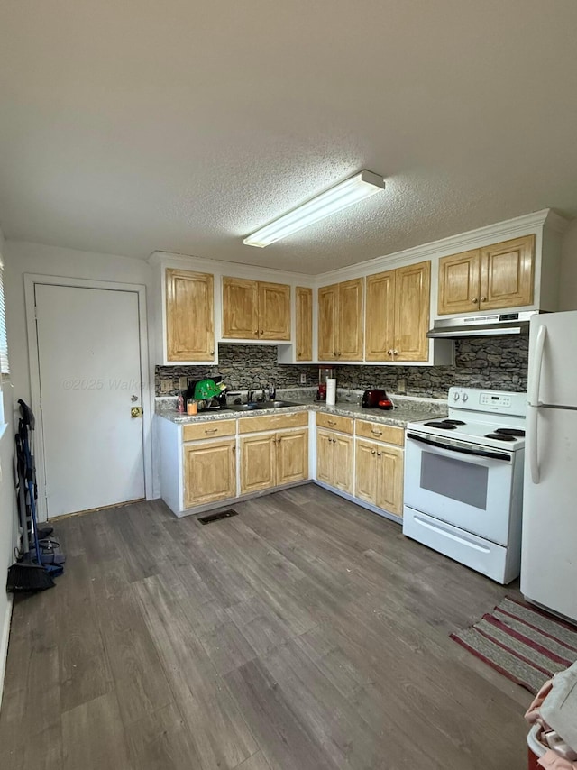
[(223, 337), (290, 339), (290, 286), (223, 277)]

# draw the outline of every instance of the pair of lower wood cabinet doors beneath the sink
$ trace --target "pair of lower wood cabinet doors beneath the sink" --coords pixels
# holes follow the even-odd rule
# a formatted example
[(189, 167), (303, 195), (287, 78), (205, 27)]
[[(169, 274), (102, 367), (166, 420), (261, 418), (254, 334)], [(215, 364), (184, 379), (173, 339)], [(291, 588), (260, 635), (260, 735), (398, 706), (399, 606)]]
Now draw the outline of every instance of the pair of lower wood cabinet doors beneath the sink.
[(308, 429), (244, 435), (241, 494), (308, 478)]

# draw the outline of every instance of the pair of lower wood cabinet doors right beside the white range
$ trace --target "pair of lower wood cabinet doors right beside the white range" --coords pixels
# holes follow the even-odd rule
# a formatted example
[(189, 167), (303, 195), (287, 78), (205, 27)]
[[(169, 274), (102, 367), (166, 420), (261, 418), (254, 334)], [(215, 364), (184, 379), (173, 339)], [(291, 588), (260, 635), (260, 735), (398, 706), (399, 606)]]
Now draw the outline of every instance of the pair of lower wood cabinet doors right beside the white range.
[(403, 450), (356, 439), (354, 496), (396, 516), (403, 515)]

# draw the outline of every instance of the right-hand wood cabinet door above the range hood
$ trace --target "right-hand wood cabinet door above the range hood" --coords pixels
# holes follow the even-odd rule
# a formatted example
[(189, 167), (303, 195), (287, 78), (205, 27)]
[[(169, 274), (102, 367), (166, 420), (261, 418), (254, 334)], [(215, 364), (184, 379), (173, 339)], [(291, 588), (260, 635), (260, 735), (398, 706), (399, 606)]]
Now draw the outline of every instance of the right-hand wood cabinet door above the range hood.
[(535, 235), (496, 243), (481, 249), (483, 310), (533, 303)]

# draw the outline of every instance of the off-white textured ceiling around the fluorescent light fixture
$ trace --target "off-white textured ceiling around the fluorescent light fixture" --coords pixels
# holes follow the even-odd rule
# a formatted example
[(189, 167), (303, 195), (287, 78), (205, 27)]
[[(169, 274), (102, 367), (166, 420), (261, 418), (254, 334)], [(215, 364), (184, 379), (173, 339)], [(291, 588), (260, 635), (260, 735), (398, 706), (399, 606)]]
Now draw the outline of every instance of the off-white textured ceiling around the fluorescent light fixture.
[[(574, 0), (5, 0), (5, 237), (317, 273), (577, 215)], [(354, 171), (382, 195), (243, 236)]]

